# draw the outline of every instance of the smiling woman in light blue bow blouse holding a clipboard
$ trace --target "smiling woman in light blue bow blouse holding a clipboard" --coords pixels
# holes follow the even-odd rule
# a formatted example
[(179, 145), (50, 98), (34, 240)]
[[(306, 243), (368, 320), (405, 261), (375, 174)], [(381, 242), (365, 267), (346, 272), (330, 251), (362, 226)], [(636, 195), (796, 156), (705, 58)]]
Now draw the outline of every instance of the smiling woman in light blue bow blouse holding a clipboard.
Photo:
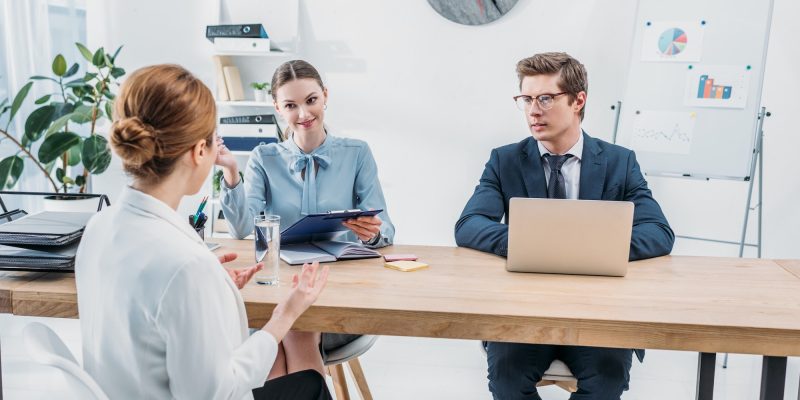
[[(307, 214), (359, 208), (383, 209), (374, 217), (345, 222), (345, 240), (360, 240), (369, 247), (392, 244), (394, 226), (386, 210), (378, 170), (364, 141), (335, 137), (324, 125), (328, 89), (317, 70), (302, 60), (288, 61), (272, 77), (275, 109), (288, 124), (289, 138), (282, 143), (258, 146), (250, 155), (242, 184), (236, 160), (220, 141), (217, 165), (222, 167), (222, 210), (237, 238), (253, 231), (253, 218), (262, 211), (281, 217), (281, 227)], [(313, 171), (309, 173), (309, 171)], [(308, 338), (302, 335), (314, 335)], [(302, 337), (301, 337), (302, 336)], [(323, 358), (358, 335), (291, 331), (288, 342), (317, 340)], [(292, 354), (279, 353), (292, 362)]]

